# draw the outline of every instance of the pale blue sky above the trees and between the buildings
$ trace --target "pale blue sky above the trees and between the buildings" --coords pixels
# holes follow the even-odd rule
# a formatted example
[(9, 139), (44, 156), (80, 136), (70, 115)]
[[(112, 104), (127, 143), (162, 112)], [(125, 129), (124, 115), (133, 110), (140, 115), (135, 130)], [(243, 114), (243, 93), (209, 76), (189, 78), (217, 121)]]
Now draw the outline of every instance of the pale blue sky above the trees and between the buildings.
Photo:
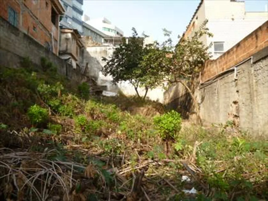
[[(220, 1), (220, 0), (219, 0)], [(177, 40), (188, 25), (200, 0), (173, 1), (93, 1), (84, 0), (84, 14), (90, 18), (108, 18), (112, 24), (131, 35), (131, 28), (138, 33), (150, 35), (154, 40), (164, 41), (162, 28), (172, 31)], [(246, 0), (246, 11), (265, 11), (266, 0)]]

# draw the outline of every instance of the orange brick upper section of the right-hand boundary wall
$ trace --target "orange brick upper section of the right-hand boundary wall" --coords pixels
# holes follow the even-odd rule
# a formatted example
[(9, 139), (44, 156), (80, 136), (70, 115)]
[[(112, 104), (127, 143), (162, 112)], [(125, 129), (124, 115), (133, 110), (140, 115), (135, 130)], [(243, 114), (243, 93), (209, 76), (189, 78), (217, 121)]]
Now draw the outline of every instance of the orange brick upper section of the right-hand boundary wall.
[(208, 61), (201, 75), (202, 82), (232, 68), (267, 46), (268, 21), (226, 51), (225, 54), (221, 55), (218, 59)]

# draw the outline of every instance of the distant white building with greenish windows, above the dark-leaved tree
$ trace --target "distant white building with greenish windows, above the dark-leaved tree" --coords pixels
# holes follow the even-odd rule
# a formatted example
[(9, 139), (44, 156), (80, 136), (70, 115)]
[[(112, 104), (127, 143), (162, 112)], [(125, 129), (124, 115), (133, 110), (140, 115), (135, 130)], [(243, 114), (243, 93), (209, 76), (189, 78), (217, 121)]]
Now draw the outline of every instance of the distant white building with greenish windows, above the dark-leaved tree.
[(124, 36), (124, 32), (115, 25), (112, 25), (112, 23), (105, 17), (90, 20), (87, 17), (87, 20), (85, 18), (85, 23), (91, 25), (95, 29), (103, 32), (108, 36), (117, 36), (117, 37)]

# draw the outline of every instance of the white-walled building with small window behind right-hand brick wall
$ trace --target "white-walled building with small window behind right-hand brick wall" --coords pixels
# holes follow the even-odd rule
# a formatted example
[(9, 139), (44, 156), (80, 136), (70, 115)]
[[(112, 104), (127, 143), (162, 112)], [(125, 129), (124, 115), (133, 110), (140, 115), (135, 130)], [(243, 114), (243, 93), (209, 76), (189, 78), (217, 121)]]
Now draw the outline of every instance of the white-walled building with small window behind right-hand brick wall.
[(204, 36), (201, 41), (213, 43), (210, 52), (216, 59), (265, 23), (268, 12), (246, 12), (245, 2), (238, 0), (201, 0), (183, 37), (191, 37), (205, 19), (213, 37)]

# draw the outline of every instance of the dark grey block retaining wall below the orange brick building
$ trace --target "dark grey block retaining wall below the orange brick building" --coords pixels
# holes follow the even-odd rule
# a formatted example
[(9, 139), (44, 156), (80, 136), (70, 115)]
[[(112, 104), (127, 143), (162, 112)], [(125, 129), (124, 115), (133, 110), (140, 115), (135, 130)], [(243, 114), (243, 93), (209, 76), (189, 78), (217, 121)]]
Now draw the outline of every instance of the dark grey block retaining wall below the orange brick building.
[(60, 59), (53, 52), (47, 51), (32, 37), (0, 17), (0, 65), (18, 68), (23, 57), (29, 57), (37, 66), (41, 65), (41, 57), (46, 57), (58, 67), (58, 72), (61, 75), (77, 82), (87, 79), (80, 73), (80, 69), (73, 69), (63, 59)]

